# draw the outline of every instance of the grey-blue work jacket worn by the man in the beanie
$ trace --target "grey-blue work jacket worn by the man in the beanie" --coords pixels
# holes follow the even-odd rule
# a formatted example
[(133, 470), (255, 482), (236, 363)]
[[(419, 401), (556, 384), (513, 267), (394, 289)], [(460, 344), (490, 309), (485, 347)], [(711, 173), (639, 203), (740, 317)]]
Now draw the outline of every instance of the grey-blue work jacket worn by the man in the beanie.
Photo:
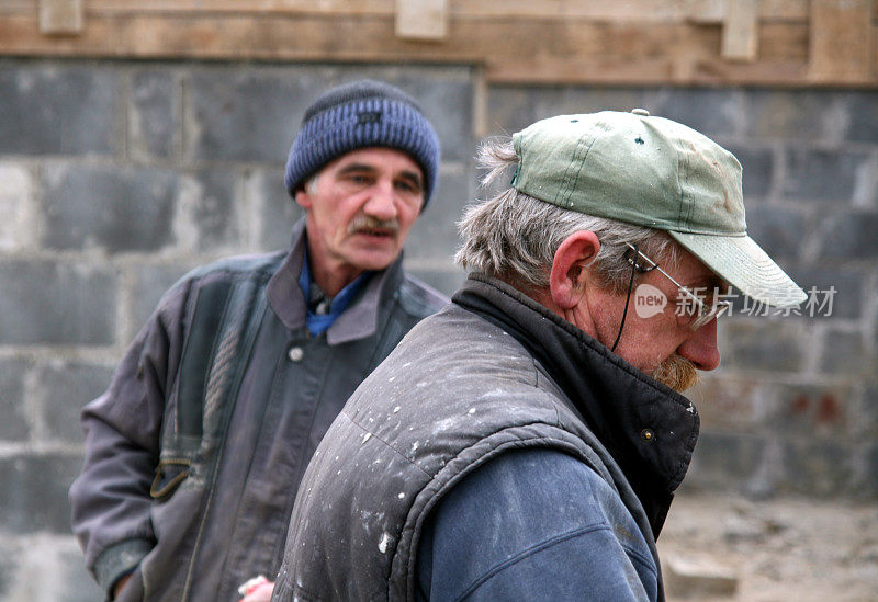
[[(185, 275), (132, 343), (106, 393), (86, 406), (86, 463), (70, 489), (74, 532), (105, 590), (136, 567), (122, 600), (236, 601), (243, 581), (275, 573), (296, 487), (324, 432), (402, 337), (444, 304), (407, 276), (399, 259), (312, 337), (299, 286), (305, 245), (302, 220), (289, 252)], [(168, 448), (181, 439), (175, 432), (181, 355), (194, 299), (218, 281), (245, 281), (254, 299), (266, 302), (258, 334), (230, 402), (205, 408), (188, 477), (151, 499), (159, 456), (172, 469), (175, 455), (187, 452)], [(240, 357), (230, 361), (235, 366)]]

